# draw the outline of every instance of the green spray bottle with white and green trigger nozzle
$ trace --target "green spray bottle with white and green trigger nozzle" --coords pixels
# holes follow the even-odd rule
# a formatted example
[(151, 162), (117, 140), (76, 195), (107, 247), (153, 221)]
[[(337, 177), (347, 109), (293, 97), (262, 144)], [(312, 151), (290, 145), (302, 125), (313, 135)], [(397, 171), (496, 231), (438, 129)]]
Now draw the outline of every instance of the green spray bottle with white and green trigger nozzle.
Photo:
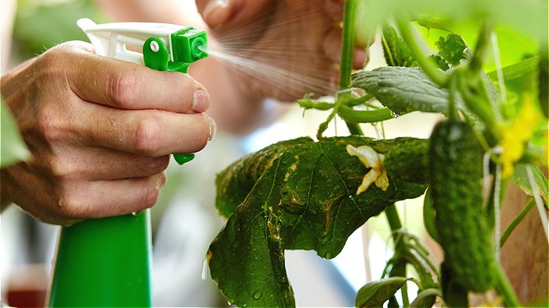
[[(100, 56), (187, 72), (206, 58), (206, 32), (165, 23), (77, 25)], [(136, 46), (142, 53), (127, 49)], [(194, 154), (174, 154), (179, 165)], [(49, 288), (49, 307), (151, 307), (151, 213), (89, 219), (62, 227)]]

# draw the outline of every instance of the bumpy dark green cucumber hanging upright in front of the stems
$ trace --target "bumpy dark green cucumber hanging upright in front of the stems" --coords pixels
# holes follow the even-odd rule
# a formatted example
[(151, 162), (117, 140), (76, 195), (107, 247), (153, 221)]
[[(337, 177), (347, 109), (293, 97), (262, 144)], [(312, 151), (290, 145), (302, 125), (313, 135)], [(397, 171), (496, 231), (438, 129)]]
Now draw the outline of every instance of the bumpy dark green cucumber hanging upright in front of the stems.
[(491, 232), (482, 204), (483, 150), (469, 124), (439, 122), (431, 135), (429, 171), (436, 228), (451, 269), (450, 279), (467, 290), (495, 282)]

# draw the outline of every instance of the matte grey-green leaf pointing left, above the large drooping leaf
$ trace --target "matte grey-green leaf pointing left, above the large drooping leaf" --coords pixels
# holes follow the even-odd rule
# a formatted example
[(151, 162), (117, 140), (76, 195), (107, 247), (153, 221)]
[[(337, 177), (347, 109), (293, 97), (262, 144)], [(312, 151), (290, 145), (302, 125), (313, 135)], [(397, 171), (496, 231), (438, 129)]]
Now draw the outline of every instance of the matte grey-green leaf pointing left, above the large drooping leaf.
[[(363, 70), (351, 76), (351, 85), (374, 94), (379, 102), (399, 115), (412, 111), (448, 112), (448, 91), (436, 86), (420, 68)], [(459, 95), (456, 104), (458, 109), (464, 109)]]

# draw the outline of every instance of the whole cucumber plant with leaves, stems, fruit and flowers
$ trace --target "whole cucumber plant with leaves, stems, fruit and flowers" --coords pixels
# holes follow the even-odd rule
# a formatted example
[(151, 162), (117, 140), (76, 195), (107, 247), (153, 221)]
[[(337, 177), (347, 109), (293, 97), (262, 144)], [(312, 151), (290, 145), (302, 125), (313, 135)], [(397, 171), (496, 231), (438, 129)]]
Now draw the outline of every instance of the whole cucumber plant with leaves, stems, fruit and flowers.
[[(229, 302), (294, 306), (284, 251), (315, 250), (330, 259), (355, 229), (384, 213), (394, 254), (383, 276), (358, 291), (357, 307), (431, 307), (436, 301), (461, 307), (469, 293), (493, 291), (505, 306), (519, 306), (497, 253), (534, 204), (547, 220), (548, 182), (539, 169), (548, 155), (547, 7), (546, 1), (347, 0), (339, 91), (334, 101), (309, 94), (298, 100), (305, 109), (330, 110), (318, 141), (275, 143), (217, 176), (216, 207), (227, 225), (207, 257)], [(454, 30), (467, 19), (481, 20), (478, 31), (467, 28), (473, 45)], [(488, 51), (498, 51), (498, 27), (523, 33), (538, 51), (503, 68), (496, 56), (495, 70), (486, 73)], [(388, 66), (351, 72), (355, 34), (367, 45), (365, 36), (376, 28)], [(443, 34), (432, 42), (436, 52), (425, 50), (426, 37), (417, 30), (427, 38)], [(429, 139), (362, 136), (365, 123), (382, 125), (412, 112), (447, 119)], [(351, 136), (324, 138), (336, 116)], [(507, 179), (536, 202), (496, 238)], [(394, 205), (426, 191), (424, 223), (445, 253), (441, 265), (403, 229)], [(412, 302), (409, 281), (419, 289)]]

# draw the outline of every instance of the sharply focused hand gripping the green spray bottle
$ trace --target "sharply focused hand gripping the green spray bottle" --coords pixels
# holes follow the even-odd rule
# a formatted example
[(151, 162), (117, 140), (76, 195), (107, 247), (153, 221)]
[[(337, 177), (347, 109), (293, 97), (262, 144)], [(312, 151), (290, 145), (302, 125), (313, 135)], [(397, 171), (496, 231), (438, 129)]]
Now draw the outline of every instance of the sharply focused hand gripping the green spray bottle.
[(1, 78), (33, 158), (1, 170), (2, 199), (70, 225), (153, 206), (170, 153), (193, 153), (215, 125), (210, 98), (179, 72), (96, 56), (72, 41)]

